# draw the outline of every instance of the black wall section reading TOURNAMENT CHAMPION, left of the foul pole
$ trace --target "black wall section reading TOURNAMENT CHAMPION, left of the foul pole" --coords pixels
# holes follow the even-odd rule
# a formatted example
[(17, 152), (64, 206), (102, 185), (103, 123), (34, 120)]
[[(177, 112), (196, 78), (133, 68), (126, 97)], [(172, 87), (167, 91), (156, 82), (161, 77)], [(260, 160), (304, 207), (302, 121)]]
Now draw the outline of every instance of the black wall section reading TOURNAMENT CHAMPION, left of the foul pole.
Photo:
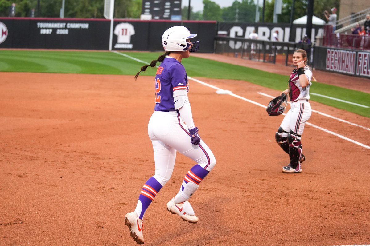
[[(107, 49), (109, 22), (105, 19), (1, 19), (8, 37), (0, 48)], [(108, 37), (108, 38), (100, 38)]]

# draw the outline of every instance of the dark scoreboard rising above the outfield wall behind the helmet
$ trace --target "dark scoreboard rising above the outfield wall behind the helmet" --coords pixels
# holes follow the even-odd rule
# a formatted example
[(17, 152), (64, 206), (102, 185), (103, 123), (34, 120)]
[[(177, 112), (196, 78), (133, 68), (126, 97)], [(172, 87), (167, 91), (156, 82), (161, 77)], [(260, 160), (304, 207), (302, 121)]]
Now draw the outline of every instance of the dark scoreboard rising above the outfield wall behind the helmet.
[(142, 17), (154, 20), (181, 20), (181, 0), (142, 0)]

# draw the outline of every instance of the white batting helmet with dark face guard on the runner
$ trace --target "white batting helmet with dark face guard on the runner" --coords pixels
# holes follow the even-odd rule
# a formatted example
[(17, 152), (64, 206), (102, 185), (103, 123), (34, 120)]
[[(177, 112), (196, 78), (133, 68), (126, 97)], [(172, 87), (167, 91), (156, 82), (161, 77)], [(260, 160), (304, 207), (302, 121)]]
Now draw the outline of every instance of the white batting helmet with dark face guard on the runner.
[(196, 37), (196, 34), (191, 34), (186, 27), (171, 27), (163, 33), (162, 45), (165, 51), (198, 51), (200, 41), (196, 41), (192, 44), (186, 42), (187, 39), (194, 37)]

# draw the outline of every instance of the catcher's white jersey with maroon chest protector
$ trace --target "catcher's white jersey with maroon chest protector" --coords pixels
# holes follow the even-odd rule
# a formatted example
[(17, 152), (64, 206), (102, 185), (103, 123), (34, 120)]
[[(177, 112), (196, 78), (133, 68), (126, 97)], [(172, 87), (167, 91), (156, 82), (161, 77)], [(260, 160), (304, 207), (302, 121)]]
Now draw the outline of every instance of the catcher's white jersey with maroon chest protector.
[(310, 99), (309, 90), (311, 86), (311, 78), (312, 78), (312, 71), (309, 69), (308, 66), (305, 66), (305, 75), (308, 79), (308, 86), (302, 88), (299, 84), (299, 76), (297, 74), (297, 69), (294, 69), (292, 74), (290, 74), (289, 78), (289, 95), (290, 101), (296, 101), (301, 99)]

